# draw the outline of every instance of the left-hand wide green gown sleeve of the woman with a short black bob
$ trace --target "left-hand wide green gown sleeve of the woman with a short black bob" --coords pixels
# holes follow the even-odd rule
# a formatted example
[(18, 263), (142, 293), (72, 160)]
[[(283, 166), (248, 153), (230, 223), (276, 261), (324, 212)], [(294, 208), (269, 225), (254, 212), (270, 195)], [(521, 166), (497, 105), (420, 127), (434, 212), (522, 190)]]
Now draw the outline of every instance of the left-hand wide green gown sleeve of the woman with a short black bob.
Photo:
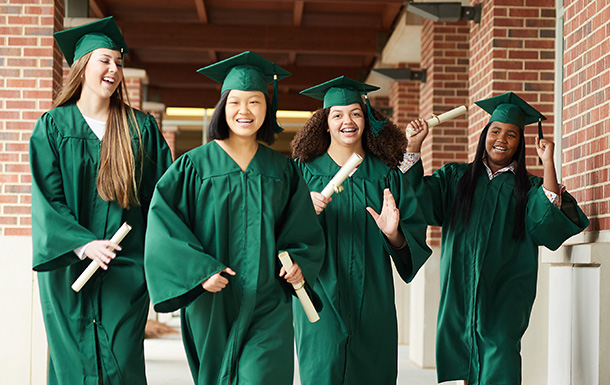
[(204, 292), (201, 283), (225, 269), (192, 231), (191, 213), (202, 181), (188, 156), (161, 177), (148, 212), (144, 269), (154, 308), (180, 309)]

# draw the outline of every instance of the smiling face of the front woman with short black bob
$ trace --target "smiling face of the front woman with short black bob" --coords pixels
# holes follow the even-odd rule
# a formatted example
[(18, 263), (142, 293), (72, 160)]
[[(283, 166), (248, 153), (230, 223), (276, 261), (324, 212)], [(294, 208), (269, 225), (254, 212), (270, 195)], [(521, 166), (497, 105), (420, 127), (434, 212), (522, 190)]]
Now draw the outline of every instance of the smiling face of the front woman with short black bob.
[(267, 114), (265, 95), (260, 91), (231, 90), (225, 104), (229, 137), (254, 137)]

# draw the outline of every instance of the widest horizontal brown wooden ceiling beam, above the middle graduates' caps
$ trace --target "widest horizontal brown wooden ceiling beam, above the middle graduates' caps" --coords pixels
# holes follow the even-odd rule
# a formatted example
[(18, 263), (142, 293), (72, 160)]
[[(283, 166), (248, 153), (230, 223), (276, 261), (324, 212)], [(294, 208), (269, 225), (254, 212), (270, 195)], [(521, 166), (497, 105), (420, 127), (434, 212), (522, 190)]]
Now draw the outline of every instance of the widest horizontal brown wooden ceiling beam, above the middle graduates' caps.
[[(377, 28), (125, 23), (130, 48), (376, 55)], [(243, 33), (242, 33), (243, 32)]]

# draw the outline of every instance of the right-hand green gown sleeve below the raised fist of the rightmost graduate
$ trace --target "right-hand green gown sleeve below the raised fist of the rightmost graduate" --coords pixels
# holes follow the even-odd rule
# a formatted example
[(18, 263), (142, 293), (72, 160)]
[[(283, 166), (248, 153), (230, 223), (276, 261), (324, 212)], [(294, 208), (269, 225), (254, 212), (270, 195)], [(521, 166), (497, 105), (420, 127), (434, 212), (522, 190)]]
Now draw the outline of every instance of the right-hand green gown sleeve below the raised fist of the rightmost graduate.
[(530, 189), (525, 226), (537, 245), (556, 250), (565, 240), (589, 226), (589, 219), (570, 194), (564, 192), (562, 200), (564, 205), (567, 203), (573, 208), (572, 219), (549, 201), (541, 185)]

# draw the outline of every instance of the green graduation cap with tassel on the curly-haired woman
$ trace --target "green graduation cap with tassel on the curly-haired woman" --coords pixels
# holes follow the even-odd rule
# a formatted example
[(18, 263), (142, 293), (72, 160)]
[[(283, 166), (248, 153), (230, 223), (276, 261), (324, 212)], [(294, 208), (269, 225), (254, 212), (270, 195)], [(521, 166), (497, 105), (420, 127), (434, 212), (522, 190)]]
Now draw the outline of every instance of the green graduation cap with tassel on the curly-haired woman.
[[(371, 104), (367, 96), (368, 92), (377, 91), (379, 87), (372, 86), (347, 76), (339, 76), (338, 78), (329, 80), (317, 86), (310, 87), (300, 92), (300, 94), (312, 97), (314, 99), (323, 100), (323, 108), (333, 106), (348, 106), (354, 103), (362, 103), (362, 96), (366, 100), (369, 122), (371, 130), (375, 135), (383, 129), (386, 121), (379, 121), (373, 116)], [(362, 96), (361, 96), (362, 95)]]

